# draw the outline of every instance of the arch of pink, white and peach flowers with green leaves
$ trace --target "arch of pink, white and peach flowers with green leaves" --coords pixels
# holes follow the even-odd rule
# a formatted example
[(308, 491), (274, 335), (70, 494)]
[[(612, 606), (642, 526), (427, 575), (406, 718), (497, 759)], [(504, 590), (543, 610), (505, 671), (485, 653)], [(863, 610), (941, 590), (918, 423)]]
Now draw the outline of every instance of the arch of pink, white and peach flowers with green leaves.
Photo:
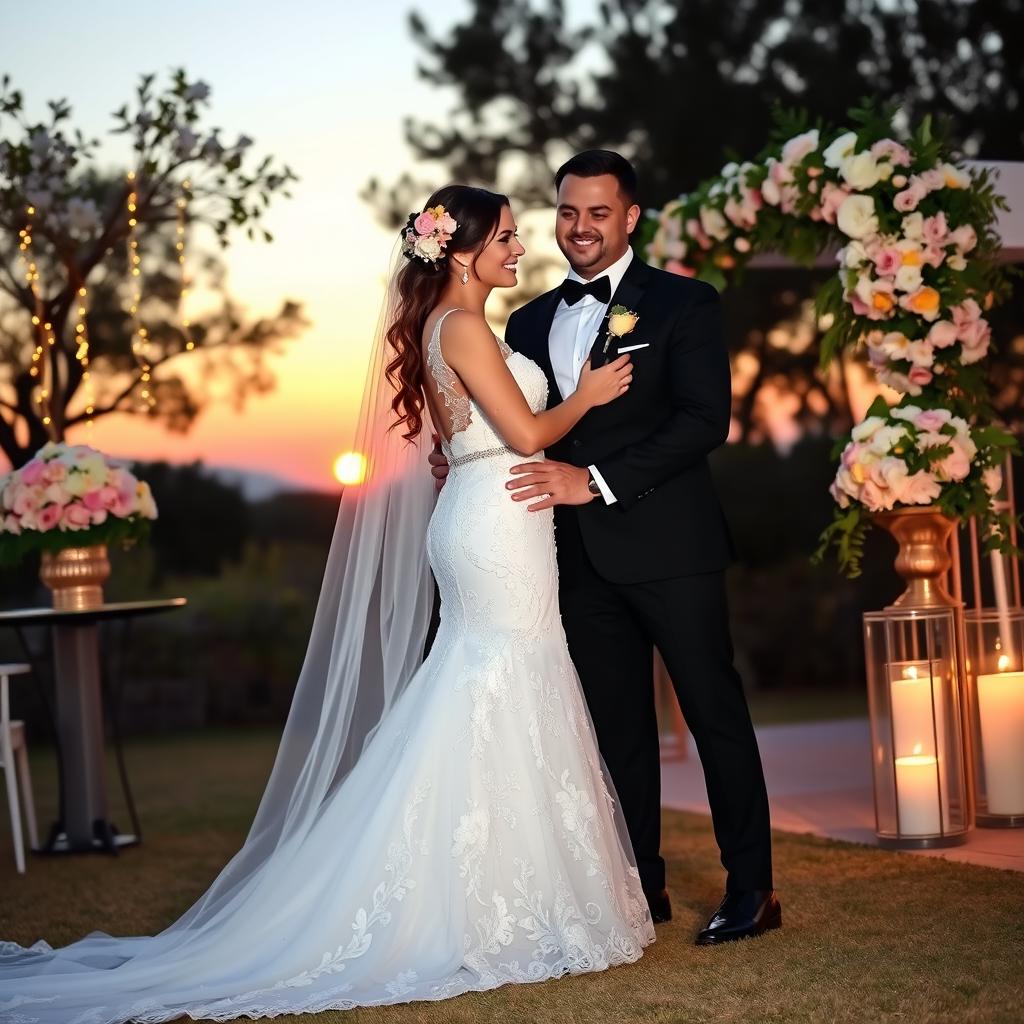
[(856, 575), (871, 513), (914, 505), (977, 517), (988, 546), (1009, 550), (993, 497), (1017, 442), (992, 422), (985, 366), (985, 314), (1010, 288), (995, 230), (1006, 202), (929, 119), (898, 140), (887, 113), (849, 117), (853, 127), (838, 129), (779, 115), (756, 160), (727, 164), (647, 218), (647, 259), (721, 288), (759, 252), (809, 265), (838, 248), (839, 270), (815, 300), (829, 324), (821, 366), (863, 345), (901, 396), (892, 408), (876, 399), (837, 446), (837, 507), (816, 557), (835, 547)]

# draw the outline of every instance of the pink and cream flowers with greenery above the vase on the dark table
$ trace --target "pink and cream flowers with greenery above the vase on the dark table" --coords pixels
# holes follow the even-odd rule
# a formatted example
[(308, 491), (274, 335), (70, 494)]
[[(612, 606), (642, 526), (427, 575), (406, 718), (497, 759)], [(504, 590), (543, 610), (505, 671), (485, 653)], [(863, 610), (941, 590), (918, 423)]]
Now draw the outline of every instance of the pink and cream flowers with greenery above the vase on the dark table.
[(49, 443), (0, 476), (0, 563), (144, 538), (157, 518), (150, 485), (85, 444)]

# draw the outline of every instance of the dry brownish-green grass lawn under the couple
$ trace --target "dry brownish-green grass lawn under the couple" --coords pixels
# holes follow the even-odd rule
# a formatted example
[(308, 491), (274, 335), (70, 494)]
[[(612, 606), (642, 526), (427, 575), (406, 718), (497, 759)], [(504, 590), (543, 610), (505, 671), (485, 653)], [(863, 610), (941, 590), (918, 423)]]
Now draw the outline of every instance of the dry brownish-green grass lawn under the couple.
[[(276, 735), (217, 733), (128, 748), (145, 842), (117, 858), (34, 857), (18, 878), (0, 815), (0, 938), (53, 944), (93, 929), (150, 933), (199, 896), (242, 841)], [(113, 766), (112, 766), (113, 768)], [(54, 808), (34, 760), (41, 819)], [(114, 776), (112, 774), (112, 780)], [(112, 790), (114, 785), (112, 784)], [(127, 827), (118, 810), (116, 820)], [(666, 812), (675, 920), (635, 966), (440, 1004), (282, 1017), (306, 1024), (1007, 1022), (1024, 1020), (1024, 874), (778, 833), (785, 927), (697, 949), (722, 872), (707, 818)]]

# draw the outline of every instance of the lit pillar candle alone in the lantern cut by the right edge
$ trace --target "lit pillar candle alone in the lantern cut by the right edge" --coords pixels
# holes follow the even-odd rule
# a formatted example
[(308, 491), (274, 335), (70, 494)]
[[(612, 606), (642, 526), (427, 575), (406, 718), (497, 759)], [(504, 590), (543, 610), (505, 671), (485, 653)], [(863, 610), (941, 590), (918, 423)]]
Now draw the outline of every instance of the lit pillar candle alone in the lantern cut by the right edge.
[(1024, 814), (1024, 672), (978, 676), (978, 717), (990, 814)]

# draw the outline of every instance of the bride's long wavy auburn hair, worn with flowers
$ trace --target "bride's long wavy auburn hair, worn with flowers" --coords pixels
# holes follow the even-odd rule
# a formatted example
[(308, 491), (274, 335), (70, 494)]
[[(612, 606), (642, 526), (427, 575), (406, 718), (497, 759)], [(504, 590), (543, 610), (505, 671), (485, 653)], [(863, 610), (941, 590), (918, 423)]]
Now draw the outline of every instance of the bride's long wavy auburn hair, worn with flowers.
[[(404, 427), (407, 440), (418, 437), (423, 429), (423, 326), (430, 310), (441, 297), (451, 280), (451, 253), (471, 252), (475, 256), (495, 237), (502, 208), (508, 197), (472, 185), (444, 185), (427, 200), (423, 209), (444, 207), (459, 225), (436, 263), (414, 256), (396, 276), (398, 298), (394, 319), (385, 337), (394, 355), (385, 371), (395, 390), (391, 408), (395, 422), (390, 429)], [(404, 230), (404, 228), (402, 228)]]

